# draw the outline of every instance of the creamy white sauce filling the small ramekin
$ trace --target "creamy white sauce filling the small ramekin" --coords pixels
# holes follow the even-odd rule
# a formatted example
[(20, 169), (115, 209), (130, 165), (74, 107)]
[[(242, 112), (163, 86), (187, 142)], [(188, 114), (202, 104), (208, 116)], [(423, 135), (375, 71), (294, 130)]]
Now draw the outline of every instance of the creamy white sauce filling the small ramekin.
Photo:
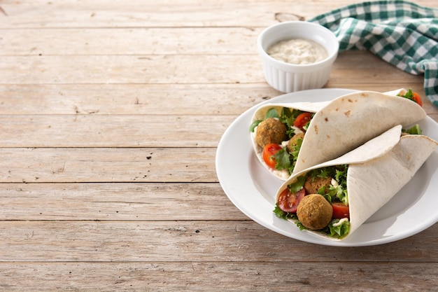
[(267, 53), (278, 61), (301, 65), (316, 63), (328, 56), (323, 46), (306, 39), (279, 41), (269, 47)]

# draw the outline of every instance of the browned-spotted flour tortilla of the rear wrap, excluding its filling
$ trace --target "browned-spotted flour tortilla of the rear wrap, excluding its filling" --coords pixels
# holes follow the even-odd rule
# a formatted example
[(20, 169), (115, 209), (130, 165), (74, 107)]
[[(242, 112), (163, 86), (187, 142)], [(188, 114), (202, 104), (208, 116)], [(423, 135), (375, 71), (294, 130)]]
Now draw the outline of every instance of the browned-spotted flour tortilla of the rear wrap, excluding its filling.
[[(386, 93), (353, 92), (333, 99), (331, 102), (296, 102), (264, 104), (253, 115), (252, 122), (263, 120), (269, 109), (278, 113), (283, 107), (316, 113), (306, 131), (292, 174), (337, 158), (364, 144), (395, 125), (410, 126), (425, 118), (421, 106), (404, 97), (406, 90), (397, 89)], [(271, 169), (262, 157), (263, 149), (251, 140), (257, 159), (278, 179), (286, 180), (286, 170)]]

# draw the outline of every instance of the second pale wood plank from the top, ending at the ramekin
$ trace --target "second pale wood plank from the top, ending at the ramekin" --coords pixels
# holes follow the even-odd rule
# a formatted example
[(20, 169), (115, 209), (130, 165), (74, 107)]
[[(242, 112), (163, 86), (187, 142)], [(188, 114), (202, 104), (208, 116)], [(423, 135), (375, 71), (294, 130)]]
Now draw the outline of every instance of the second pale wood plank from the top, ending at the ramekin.
[(248, 27), (38, 29), (38, 34), (0, 29), (0, 55), (254, 55), (260, 32)]

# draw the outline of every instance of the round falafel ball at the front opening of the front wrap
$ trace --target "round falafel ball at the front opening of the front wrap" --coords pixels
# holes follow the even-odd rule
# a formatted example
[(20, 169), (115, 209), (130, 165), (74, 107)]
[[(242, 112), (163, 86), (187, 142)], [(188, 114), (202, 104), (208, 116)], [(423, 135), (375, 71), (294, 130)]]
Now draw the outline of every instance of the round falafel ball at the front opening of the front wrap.
[(320, 230), (332, 221), (332, 205), (318, 194), (306, 195), (298, 204), (298, 220), (310, 230)]

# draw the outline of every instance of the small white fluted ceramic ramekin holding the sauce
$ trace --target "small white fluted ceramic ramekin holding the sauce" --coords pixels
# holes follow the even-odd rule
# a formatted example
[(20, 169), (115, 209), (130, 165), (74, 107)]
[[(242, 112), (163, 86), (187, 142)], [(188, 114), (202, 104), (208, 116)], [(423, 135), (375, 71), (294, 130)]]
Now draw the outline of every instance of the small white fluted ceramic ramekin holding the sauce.
[[(313, 64), (289, 64), (269, 56), (267, 49), (278, 41), (307, 39), (322, 45), (328, 56)], [(281, 92), (322, 88), (327, 83), (339, 50), (339, 42), (330, 29), (306, 21), (280, 22), (264, 29), (257, 39), (267, 83)]]

